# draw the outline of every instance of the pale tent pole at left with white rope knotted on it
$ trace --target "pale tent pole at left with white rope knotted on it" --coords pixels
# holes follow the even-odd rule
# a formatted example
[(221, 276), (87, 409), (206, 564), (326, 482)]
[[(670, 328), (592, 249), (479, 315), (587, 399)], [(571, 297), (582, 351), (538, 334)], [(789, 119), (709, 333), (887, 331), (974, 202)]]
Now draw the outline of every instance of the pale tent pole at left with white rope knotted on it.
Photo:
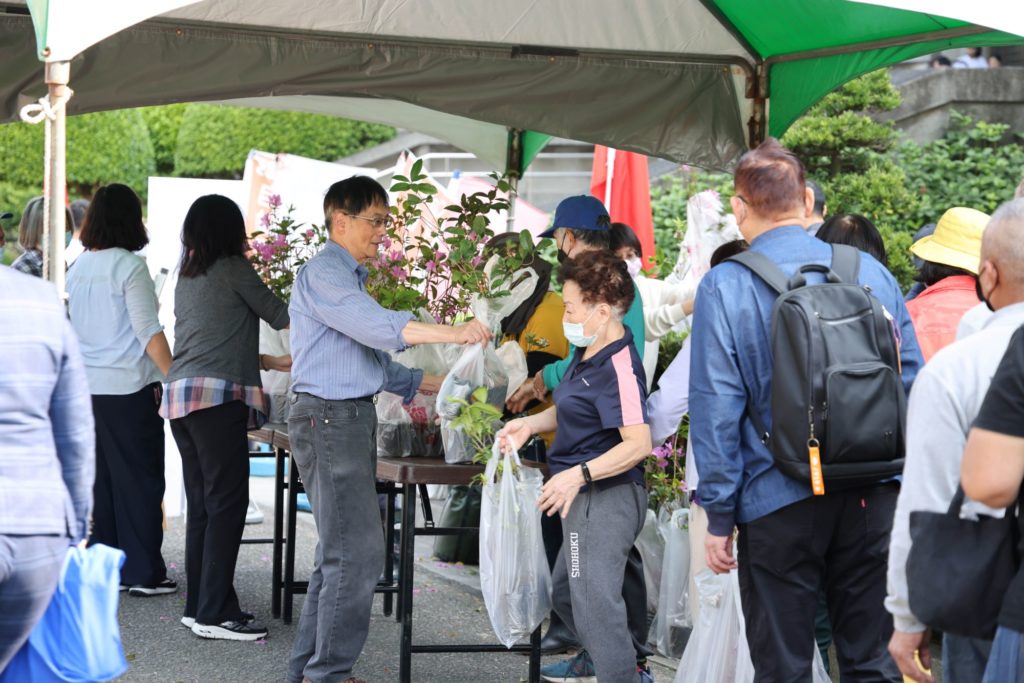
[(46, 85), (49, 89), (49, 104), (52, 114), (46, 119), (47, 146), (49, 155), (46, 168), (43, 207), (45, 215), (44, 232), (48, 233), (48, 244), (43, 246), (44, 276), (54, 284), (60, 296), (65, 296), (65, 224), (67, 182), (65, 161), (67, 153), (65, 104), (71, 97), (68, 82), (71, 79), (70, 61), (46, 62)]

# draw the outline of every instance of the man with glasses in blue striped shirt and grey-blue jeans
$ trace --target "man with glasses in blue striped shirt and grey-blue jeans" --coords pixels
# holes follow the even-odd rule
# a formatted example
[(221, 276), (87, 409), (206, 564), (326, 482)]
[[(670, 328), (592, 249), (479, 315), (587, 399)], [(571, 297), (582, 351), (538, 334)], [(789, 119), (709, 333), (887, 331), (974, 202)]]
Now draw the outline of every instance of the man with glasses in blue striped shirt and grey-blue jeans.
[(288, 430), (319, 543), (288, 680), (358, 683), (352, 668), (370, 629), (385, 551), (373, 397), (390, 391), (411, 401), (441, 382), (392, 361), (386, 350), (482, 343), (492, 334), (477, 322), (418, 323), (367, 294), (361, 263), (377, 256), (391, 221), (387, 193), (376, 180), (355, 176), (331, 185), (324, 217), (330, 242), (299, 271), (289, 307), (295, 398)]

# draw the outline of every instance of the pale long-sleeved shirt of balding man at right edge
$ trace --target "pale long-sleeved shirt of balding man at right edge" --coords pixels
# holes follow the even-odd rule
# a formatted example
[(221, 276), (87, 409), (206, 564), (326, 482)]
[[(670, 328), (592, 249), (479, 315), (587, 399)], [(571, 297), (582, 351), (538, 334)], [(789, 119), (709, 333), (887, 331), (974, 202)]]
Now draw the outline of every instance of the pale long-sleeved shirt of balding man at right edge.
[[(910, 513), (945, 512), (959, 484), (961, 461), (971, 424), (981, 410), (1010, 338), (1024, 325), (1024, 303), (996, 311), (985, 326), (936, 353), (918, 374), (906, 419), (906, 463), (896, 503), (889, 546), (886, 609), (897, 631), (920, 633), (925, 625), (910, 612), (906, 559), (910, 553)], [(962, 514), (1001, 516), (967, 501)]]

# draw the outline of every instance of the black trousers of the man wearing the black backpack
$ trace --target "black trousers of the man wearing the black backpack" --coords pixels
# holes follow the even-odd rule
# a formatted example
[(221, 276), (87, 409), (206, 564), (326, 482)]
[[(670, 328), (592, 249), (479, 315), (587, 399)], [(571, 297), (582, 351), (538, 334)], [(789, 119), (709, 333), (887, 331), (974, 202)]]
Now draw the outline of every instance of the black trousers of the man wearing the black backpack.
[(895, 482), (828, 493), (739, 525), (739, 592), (757, 683), (806, 683), (824, 586), (844, 683), (900, 683), (883, 602)]

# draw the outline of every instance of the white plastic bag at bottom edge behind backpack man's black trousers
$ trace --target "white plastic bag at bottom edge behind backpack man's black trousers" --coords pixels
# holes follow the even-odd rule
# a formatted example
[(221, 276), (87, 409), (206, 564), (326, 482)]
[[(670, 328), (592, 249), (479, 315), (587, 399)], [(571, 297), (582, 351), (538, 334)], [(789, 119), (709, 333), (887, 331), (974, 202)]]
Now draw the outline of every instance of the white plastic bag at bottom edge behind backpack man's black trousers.
[[(738, 573), (715, 574), (709, 569), (698, 573), (694, 583), (700, 617), (679, 661), (675, 683), (753, 683), (754, 664), (739, 602)], [(813, 637), (808, 640), (808, 647), (814, 650), (811, 680), (830, 683), (817, 644)]]

